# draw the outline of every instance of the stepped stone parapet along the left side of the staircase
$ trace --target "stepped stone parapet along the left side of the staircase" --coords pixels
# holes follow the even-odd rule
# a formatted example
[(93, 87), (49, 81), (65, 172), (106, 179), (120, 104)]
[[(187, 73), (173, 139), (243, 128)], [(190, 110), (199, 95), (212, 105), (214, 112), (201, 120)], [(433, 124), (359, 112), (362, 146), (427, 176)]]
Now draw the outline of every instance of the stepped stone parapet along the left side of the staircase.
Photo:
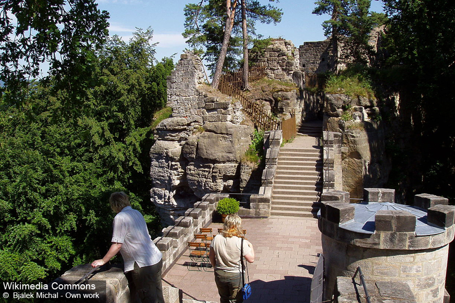
[(250, 208), (241, 208), (240, 216), (270, 217), (271, 194), (274, 187), (278, 154), (283, 142), (283, 131), (274, 130), (264, 133), (265, 169), (262, 173), (262, 186), (258, 194), (250, 195)]

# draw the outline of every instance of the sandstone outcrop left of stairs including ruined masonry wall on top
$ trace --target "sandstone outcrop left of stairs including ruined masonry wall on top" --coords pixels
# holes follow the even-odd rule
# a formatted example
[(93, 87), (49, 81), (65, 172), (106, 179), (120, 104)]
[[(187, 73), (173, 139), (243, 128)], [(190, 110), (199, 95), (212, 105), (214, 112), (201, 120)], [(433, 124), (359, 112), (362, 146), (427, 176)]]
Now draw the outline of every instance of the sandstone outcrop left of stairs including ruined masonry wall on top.
[(240, 102), (201, 83), (200, 59), (181, 58), (167, 79), (172, 117), (157, 126), (150, 150), (150, 195), (163, 225), (206, 193), (240, 190), (241, 157), (253, 133)]

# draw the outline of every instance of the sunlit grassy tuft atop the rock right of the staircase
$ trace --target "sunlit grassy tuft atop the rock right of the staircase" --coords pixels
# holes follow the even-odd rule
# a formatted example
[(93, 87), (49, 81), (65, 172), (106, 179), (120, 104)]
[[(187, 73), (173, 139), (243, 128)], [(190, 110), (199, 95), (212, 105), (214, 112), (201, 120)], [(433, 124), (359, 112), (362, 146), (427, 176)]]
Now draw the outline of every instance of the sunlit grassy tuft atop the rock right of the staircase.
[(326, 93), (343, 93), (350, 97), (372, 97), (374, 95), (367, 70), (353, 65), (339, 74), (331, 74), (324, 89)]

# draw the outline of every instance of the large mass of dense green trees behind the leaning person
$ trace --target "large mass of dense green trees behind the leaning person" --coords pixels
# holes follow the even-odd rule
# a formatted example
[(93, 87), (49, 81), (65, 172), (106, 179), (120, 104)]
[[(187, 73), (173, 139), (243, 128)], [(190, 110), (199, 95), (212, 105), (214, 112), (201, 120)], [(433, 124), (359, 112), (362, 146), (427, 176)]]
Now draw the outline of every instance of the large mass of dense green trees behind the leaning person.
[(0, 279), (48, 281), (103, 256), (113, 191), (157, 227), (148, 152), (173, 63), (153, 64), (152, 33), (110, 38), (79, 103), (53, 78), (31, 83), (20, 106), (0, 99)]

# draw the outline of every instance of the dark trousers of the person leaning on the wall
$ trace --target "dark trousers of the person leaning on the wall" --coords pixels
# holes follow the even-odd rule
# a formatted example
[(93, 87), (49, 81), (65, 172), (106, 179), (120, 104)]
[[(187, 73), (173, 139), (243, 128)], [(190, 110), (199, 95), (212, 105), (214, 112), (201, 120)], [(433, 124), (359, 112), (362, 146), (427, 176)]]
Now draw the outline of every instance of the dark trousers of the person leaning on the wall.
[[(139, 267), (134, 262), (134, 269), (127, 273), (133, 285), (129, 290), (136, 291), (142, 303), (165, 303), (161, 285), (161, 269), (163, 260), (157, 264)], [(133, 286), (133, 287), (131, 287)]]

